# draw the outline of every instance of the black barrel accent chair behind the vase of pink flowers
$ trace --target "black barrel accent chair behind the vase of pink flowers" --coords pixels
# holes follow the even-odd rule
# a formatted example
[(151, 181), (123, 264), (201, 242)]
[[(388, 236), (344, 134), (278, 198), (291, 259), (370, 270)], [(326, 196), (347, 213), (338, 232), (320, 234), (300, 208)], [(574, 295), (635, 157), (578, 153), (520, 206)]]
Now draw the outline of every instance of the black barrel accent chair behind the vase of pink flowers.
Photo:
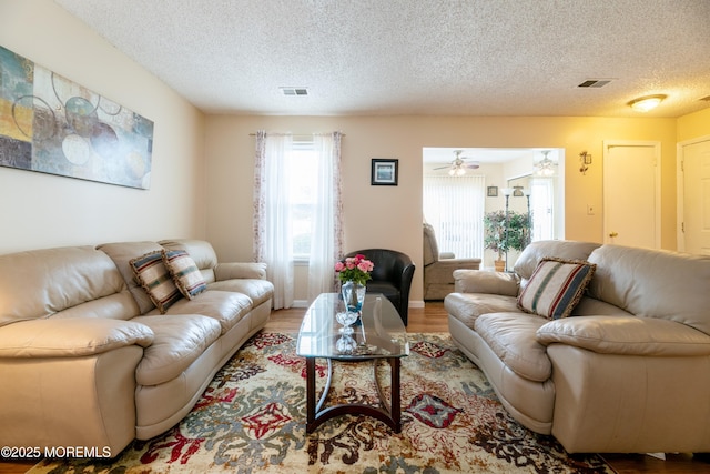
[(351, 252), (345, 256), (362, 253), (375, 268), (369, 273), (367, 293), (382, 293), (397, 309), (404, 325), (407, 325), (409, 310), (409, 289), (414, 276), (414, 263), (408, 255), (387, 249), (365, 249)]

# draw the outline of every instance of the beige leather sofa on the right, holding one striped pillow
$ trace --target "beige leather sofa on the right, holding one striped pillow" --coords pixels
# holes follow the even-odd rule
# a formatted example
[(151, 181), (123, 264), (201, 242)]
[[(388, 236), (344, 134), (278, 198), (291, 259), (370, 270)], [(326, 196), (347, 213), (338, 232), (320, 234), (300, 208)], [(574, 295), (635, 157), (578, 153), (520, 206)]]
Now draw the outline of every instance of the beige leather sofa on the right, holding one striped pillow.
[[(517, 307), (544, 256), (597, 265), (570, 317)], [(570, 453), (710, 451), (710, 258), (548, 241), (455, 278), (452, 337), (519, 423)]]

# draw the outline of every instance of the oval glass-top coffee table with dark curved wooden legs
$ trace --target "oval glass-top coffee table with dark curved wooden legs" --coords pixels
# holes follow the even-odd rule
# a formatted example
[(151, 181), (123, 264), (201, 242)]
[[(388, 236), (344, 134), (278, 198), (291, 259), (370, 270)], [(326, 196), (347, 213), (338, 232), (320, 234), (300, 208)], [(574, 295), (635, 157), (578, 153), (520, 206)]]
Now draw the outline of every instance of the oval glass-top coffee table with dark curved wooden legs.
[[(323, 293), (306, 311), (298, 331), (296, 353), (306, 359), (306, 433), (312, 433), (327, 420), (345, 414), (364, 414), (386, 423), (396, 433), (402, 431), (399, 393), (400, 360), (409, 355), (406, 327), (389, 300), (381, 294), (366, 294), (362, 323), (344, 334), (335, 315), (345, 311), (338, 293)], [(325, 359), (327, 380), (321, 399), (316, 401), (315, 360)], [(379, 406), (346, 403), (324, 407), (331, 390), (333, 361), (372, 362)], [(386, 361), (390, 366), (390, 401), (387, 402), (377, 377), (377, 365)]]

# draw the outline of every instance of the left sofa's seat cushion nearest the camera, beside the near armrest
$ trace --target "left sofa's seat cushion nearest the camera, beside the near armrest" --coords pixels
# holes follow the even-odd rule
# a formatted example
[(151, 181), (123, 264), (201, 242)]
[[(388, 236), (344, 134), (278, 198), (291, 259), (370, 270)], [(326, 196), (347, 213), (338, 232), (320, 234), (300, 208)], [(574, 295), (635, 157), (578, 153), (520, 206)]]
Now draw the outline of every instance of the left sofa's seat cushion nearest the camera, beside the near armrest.
[(140, 385), (159, 385), (179, 376), (220, 336), (220, 324), (201, 314), (145, 315), (131, 320), (154, 334), (135, 370)]

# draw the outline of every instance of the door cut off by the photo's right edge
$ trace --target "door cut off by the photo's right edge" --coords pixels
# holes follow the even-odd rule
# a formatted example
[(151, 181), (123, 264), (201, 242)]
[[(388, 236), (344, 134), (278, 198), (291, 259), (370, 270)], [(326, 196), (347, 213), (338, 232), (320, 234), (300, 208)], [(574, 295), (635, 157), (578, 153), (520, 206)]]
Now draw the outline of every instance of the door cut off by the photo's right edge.
[[(710, 255), (710, 137), (680, 143), (679, 250)], [(680, 181), (680, 180), (679, 180)]]

